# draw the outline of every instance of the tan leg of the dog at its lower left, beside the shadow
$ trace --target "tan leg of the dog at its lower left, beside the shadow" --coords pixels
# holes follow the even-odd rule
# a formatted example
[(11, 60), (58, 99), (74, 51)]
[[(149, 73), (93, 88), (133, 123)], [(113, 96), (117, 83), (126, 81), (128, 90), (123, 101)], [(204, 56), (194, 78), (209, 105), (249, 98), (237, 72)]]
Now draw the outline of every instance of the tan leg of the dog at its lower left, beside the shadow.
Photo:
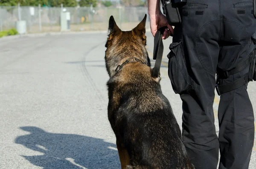
[(126, 166), (129, 165), (130, 163), (130, 157), (129, 157), (128, 151), (127, 149), (125, 149), (124, 145), (122, 145), (122, 143), (120, 143), (118, 139), (116, 139), (116, 147), (117, 147), (120, 162), (121, 162), (121, 168), (126, 169)]

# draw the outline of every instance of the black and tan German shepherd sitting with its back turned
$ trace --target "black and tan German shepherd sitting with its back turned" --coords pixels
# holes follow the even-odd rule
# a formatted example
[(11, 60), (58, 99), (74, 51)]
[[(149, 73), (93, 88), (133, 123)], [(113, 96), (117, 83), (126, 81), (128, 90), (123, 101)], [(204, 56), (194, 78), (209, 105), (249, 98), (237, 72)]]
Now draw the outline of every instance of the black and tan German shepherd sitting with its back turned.
[(108, 119), (122, 169), (194, 169), (160, 77), (152, 77), (144, 19), (121, 31), (113, 16), (105, 47)]

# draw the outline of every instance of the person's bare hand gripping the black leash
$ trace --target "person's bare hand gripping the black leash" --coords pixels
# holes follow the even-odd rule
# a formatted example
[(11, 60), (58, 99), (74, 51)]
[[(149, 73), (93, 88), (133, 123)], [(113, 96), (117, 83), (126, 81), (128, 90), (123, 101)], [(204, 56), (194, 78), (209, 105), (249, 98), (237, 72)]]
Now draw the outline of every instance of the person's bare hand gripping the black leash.
[(151, 15), (150, 17), (150, 29), (153, 36), (157, 33), (157, 29), (160, 29), (161, 27), (167, 26), (168, 29), (166, 29), (163, 33), (163, 38), (166, 39), (170, 35), (173, 35), (173, 28), (170, 26), (167, 22), (166, 16), (164, 16), (162, 13)]

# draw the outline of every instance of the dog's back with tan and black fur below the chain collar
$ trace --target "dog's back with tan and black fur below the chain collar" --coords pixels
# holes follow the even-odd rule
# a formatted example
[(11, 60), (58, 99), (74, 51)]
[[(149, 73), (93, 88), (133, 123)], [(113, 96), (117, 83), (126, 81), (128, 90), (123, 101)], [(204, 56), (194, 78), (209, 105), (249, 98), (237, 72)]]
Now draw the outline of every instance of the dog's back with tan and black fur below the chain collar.
[(120, 96), (115, 127), (130, 156), (130, 165), (138, 169), (189, 169), (169, 101), (160, 84), (152, 79), (148, 66), (137, 66), (127, 67), (116, 80), (108, 82), (109, 90)]

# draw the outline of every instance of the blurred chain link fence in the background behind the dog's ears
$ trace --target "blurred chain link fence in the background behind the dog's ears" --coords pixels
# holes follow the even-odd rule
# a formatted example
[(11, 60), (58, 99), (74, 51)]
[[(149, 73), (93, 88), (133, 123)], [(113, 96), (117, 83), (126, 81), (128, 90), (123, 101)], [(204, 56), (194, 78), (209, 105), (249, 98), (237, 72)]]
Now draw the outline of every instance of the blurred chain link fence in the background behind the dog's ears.
[[(40, 7), (21, 6), (20, 20), (28, 33), (61, 31), (61, 11), (70, 12), (70, 31), (107, 30), (111, 15), (122, 30), (131, 30), (148, 14), (147, 7)], [(17, 6), (0, 6), (0, 30), (15, 28)], [(146, 29), (149, 28), (147, 17)]]

